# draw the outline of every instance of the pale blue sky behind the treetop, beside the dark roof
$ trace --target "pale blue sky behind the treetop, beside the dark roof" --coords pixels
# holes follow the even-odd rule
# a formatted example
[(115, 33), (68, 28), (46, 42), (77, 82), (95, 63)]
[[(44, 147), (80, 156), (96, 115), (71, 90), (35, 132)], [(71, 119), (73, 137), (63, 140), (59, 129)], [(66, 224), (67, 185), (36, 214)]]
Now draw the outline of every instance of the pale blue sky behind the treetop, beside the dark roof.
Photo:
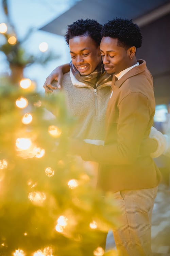
[[(58, 65), (70, 60), (69, 49), (63, 37), (45, 31), (38, 30), (51, 20), (67, 11), (78, 0), (8, 0), (9, 12), (15, 25), (19, 39), (22, 39), (29, 28), (35, 28), (31, 37), (24, 43), (24, 48), (35, 55), (40, 53), (38, 46), (41, 42), (47, 42), (49, 50), (59, 59), (50, 61), (46, 66), (31, 65), (24, 70), (24, 76), (37, 82), (38, 90), (43, 90), (43, 84), (47, 75)], [(0, 0), (0, 23), (6, 22)], [(2, 37), (0, 37), (2, 40)], [(0, 74), (8, 72), (8, 64), (5, 55), (0, 52)]]

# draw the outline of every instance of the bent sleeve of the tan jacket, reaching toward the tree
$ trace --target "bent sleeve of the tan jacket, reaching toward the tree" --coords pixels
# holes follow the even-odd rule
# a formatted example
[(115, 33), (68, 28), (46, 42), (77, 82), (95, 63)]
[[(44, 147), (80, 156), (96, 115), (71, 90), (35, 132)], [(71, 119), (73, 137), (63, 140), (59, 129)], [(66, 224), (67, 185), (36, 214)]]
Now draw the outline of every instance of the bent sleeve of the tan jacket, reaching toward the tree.
[(121, 100), (118, 109), (117, 142), (104, 146), (74, 143), (74, 153), (85, 161), (113, 165), (133, 163), (139, 156), (141, 141), (150, 122), (148, 99), (142, 93), (129, 93)]

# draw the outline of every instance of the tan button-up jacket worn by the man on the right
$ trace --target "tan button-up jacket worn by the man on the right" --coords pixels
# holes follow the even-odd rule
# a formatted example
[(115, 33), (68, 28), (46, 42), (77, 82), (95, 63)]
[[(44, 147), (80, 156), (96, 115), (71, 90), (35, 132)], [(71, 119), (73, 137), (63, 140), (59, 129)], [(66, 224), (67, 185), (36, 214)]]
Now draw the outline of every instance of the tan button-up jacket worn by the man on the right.
[[(155, 99), (152, 76), (146, 62), (128, 71), (114, 83), (106, 112), (104, 146), (84, 145), (83, 159), (100, 163), (98, 185), (119, 191), (151, 188), (161, 175), (153, 159), (139, 156), (141, 141), (153, 123)], [(114, 77), (113, 77), (114, 79)]]

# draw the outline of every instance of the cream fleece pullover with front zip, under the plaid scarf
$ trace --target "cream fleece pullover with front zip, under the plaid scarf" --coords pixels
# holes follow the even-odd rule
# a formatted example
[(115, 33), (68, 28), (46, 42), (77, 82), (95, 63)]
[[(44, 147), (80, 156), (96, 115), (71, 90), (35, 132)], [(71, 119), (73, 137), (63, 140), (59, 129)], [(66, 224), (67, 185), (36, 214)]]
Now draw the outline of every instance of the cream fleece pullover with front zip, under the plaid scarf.
[[(52, 82), (57, 85), (56, 81)], [(106, 106), (111, 95), (111, 82), (97, 89), (79, 82), (72, 72), (64, 74), (62, 91), (66, 95), (68, 110), (77, 122), (71, 137), (86, 140), (92, 144), (102, 144), (105, 136)], [(54, 91), (57, 93), (57, 90)]]

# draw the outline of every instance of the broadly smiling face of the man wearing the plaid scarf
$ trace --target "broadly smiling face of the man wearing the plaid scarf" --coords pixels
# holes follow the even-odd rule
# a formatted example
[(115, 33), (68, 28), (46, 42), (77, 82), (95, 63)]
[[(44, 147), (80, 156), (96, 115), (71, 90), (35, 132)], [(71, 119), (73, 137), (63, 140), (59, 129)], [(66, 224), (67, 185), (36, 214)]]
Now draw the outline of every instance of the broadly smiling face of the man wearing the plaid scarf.
[(72, 63), (81, 75), (91, 74), (101, 63), (101, 54), (96, 42), (89, 36), (69, 40)]

